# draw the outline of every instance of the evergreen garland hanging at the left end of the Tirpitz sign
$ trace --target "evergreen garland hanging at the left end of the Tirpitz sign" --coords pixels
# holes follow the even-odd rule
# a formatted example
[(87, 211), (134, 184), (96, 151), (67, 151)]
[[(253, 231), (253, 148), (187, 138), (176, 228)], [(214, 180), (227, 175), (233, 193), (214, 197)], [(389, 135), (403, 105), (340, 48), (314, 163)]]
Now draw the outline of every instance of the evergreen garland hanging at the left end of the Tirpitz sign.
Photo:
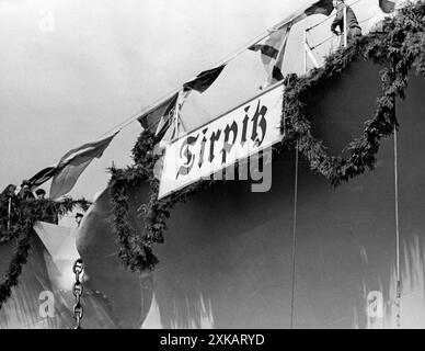
[[(175, 204), (184, 202), (188, 194), (196, 192), (199, 188), (210, 182), (203, 181), (186, 189), (158, 200), (159, 181), (156, 178), (156, 162), (159, 155), (154, 155), (154, 135), (150, 131), (140, 134), (134, 149), (134, 166), (124, 170), (111, 168), (110, 193), (113, 204), (114, 231), (120, 244), (118, 256), (122, 262), (131, 271), (152, 270), (158, 263), (152, 252), (152, 246), (164, 241), (163, 233), (166, 230), (166, 218)], [(150, 185), (149, 202), (142, 204), (139, 213), (145, 222), (146, 234), (140, 237), (129, 224), (128, 218), (128, 195), (126, 191), (140, 186), (145, 183)]]

